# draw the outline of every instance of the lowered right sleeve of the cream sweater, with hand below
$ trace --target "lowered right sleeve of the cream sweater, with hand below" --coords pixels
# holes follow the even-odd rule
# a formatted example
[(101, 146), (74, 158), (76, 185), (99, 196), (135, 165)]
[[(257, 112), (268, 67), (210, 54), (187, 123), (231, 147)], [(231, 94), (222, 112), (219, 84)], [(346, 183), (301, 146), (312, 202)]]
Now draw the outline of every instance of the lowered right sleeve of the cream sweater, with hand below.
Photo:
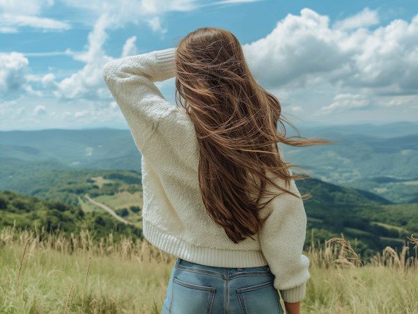
[[(293, 180), (290, 190), (300, 196)], [(295, 303), (305, 297), (306, 283), (311, 276), (309, 258), (302, 254), (307, 215), (302, 199), (289, 194), (278, 198), (283, 205), (271, 210), (258, 235), (265, 259), (275, 276), (274, 288), (280, 290), (284, 301)]]

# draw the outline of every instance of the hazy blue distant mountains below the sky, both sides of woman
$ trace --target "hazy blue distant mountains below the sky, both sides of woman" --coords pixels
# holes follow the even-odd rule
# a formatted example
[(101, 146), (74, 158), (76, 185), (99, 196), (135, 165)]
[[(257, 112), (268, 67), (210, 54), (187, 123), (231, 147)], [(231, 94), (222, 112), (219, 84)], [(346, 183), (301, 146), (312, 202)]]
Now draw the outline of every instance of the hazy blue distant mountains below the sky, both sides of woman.
[[(288, 135), (295, 135), (290, 127)], [(321, 181), (373, 192), (398, 204), (418, 199), (418, 124), (311, 126), (301, 135), (336, 140), (314, 147), (281, 144), (286, 160)], [(59, 169), (141, 171), (141, 153), (129, 130), (1, 131), (0, 160), (53, 160)], [(46, 164), (44, 167), (48, 167)], [(0, 167), (1, 184), (13, 184)], [(297, 168), (295, 168), (297, 171)]]

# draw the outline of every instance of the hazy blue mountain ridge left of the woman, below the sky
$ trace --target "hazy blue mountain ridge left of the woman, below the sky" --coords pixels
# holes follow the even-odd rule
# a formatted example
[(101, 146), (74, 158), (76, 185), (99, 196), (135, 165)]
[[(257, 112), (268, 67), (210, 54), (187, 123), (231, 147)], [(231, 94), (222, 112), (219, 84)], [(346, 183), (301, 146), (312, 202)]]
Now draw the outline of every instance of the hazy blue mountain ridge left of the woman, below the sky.
[(73, 168), (141, 171), (129, 130), (0, 131), (0, 160), (54, 160)]

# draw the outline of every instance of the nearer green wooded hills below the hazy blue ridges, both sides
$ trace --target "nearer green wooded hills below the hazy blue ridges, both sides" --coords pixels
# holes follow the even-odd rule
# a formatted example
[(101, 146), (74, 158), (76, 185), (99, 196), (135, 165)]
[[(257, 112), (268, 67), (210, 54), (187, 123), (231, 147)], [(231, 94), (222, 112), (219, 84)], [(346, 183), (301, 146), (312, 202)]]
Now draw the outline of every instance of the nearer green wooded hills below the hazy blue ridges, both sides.
[[(10, 161), (7, 165), (15, 167), (13, 177), (8, 179), (16, 181), (8, 181), (8, 184), (2, 181), (1, 190), (16, 188), (20, 193), (28, 195), (26, 199), (22, 196), (24, 204), (35, 200), (33, 195), (42, 199), (65, 202), (67, 204), (65, 206), (69, 206), (70, 213), (71, 210), (74, 211), (69, 216), (72, 223), (66, 225), (65, 229), (73, 230), (75, 225), (91, 226), (86, 221), (77, 224), (77, 219), (81, 218), (77, 218), (76, 213), (84, 212), (89, 222), (95, 221), (95, 215), (107, 217), (107, 213), (104, 213), (101, 208), (84, 198), (85, 194), (90, 195), (100, 204), (109, 206), (125, 220), (141, 228), (143, 201), (140, 173), (114, 170), (68, 170), (65, 169), (65, 165), (59, 163), (55, 164), (57, 169), (47, 170), (43, 162)], [(26, 168), (28, 168), (27, 171)], [(304, 203), (308, 216), (307, 244), (312, 241), (312, 231), (314, 231), (314, 241), (322, 242), (339, 237), (343, 233), (346, 239), (353, 240), (353, 242), (357, 238), (357, 251), (362, 256), (369, 256), (386, 246), (401, 249), (405, 236), (410, 236), (414, 232), (418, 233), (418, 204), (392, 204), (373, 193), (326, 183), (318, 179), (299, 180), (296, 184), (302, 194), (309, 192), (311, 195), (311, 199)], [(38, 203), (38, 201), (35, 202)], [(19, 226), (29, 227), (37, 222), (38, 224), (46, 223), (47, 226), (53, 226), (56, 229), (61, 217), (64, 219), (63, 222), (68, 223), (67, 216), (58, 215), (58, 210), (49, 213), (48, 217), (51, 217), (49, 220), (46, 220), (45, 213), (42, 215), (37, 213), (37, 216), (33, 217), (43, 218), (32, 219), (33, 222), (29, 224), (33, 212), (32, 207), (21, 206), (20, 211), (16, 211), (19, 207), (13, 205), (13, 200), (8, 200), (8, 204), (10, 204), (8, 208), (12, 210), (2, 220), (1, 225), (13, 224), (13, 220), (16, 219)], [(35, 210), (35, 212), (38, 211)], [(22, 218), (19, 218), (19, 215), (22, 215)], [(52, 216), (56, 218), (52, 219)], [(97, 219), (101, 222), (101, 218)], [(109, 222), (109, 226), (106, 224), (107, 228), (114, 226), (110, 223), (111, 220), (111, 217), (107, 218)], [(121, 224), (121, 222), (115, 221), (115, 224)], [(61, 228), (62, 226), (63, 224)]]

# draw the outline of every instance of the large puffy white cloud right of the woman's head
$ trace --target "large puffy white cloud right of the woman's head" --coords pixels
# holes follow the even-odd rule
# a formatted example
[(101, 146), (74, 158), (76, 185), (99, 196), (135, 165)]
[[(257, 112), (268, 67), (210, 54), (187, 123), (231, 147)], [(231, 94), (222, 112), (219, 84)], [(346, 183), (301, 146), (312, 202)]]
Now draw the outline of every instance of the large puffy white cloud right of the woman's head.
[[(243, 45), (251, 71), (266, 88), (328, 84), (368, 94), (417, 94), (418, 15), (374, 31), (360, 27), (366, 19), (351, 21), (332, 28), (329, 17), (308, 8), (289, 14), (265, 38)], [(360, 28), (343, 29), (349, 26)]]

